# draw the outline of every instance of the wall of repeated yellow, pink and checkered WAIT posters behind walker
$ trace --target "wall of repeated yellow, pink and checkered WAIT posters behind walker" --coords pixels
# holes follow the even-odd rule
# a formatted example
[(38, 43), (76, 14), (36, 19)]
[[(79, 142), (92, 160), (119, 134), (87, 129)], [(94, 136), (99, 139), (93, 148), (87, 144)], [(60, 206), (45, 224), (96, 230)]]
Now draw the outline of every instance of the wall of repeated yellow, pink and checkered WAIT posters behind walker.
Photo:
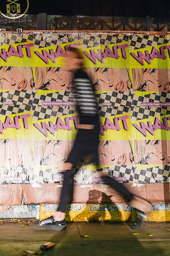
[[(0, 183), (62, 182), (78, 114), (68, 47), (82, 49), (100, 115), (99, 166), (79, 160), (75, 183), (170, 180), (170, 35), (0, 34)], [(82, 166), (82, 167), (80, 167)]]

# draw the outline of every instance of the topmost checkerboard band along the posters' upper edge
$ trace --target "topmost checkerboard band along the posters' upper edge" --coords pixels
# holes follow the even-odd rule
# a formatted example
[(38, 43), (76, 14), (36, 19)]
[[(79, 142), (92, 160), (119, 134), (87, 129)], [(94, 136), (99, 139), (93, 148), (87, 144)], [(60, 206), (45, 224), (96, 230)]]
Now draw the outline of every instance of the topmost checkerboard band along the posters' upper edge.
[(130, 50), (135, 50), (146, 48), (148, 46), (168, 44), (170, 42), (170, 36), (142, 34), (125, 35), (113, 33), (0, 33), (0, 46), (28, 41), (34, 42), (35, 49), (74, 41), (81, 41), (83, 49), (99, 45), (129, 42)]

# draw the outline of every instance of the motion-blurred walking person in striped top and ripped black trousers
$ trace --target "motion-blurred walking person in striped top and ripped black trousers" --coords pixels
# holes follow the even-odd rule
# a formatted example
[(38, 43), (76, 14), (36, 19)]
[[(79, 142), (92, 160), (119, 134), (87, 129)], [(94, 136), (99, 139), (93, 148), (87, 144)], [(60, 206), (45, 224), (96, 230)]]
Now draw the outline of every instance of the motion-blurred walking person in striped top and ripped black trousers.
[[(66, 229), (65, 212), (67, 204), (72, 202), (72, 180), (74, 177), (72, 168), (76, 165), (76, 162), (90, 154), (93, 154), (95, 162), (98, 162), (100, 131), (98, 109), (92, 83), (83, 71), (83, 57), (77, 48), (70, 47), (67, 49), (66, 69), (74, 74), (72, 93), (78, 106), (80, 124), (74, 146), (67, 162), (63, 163), (62, 166), (64, 181), (58, 209), (51, 217), (38, 222), (39, 227), (52, 230)], [(106, 183), (109, 183), (111, 187), (116, 189), (130, 206), (138, 209), (137, 221), (131, 228), (135, 229), (143, 225), (143, 220), (149, 211), (150, 204), (146, 200), (133, 195), (122, 183), (117, 182), (114, 178), (102, 172), (102, 170), (98, 170), (98, 174)]]

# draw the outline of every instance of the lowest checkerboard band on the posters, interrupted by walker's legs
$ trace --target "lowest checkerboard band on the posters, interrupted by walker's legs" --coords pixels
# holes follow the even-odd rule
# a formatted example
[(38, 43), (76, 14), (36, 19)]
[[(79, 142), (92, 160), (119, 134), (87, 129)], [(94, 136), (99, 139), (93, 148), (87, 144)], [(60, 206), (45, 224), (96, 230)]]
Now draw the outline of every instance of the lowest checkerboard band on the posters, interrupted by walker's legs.
[[(111, 177), (125, 177), (126, 182), (155, 183), (155, 182), (170, 182), (169, 166), (157, 166), (152, 168), (143, 168), (141, 170), (134, 169), (131, 165), (125, 166), (110, 166), (104, 168), (104, 172)], [(96, 171), (88, 171), (86, 166), (80, 169), (76, 168), (74, 183), (77, 184), (91, 184), (103, 183), (103, 181), (94, 182), (93, 178), (96, 177)], [(1, 180), (4, 179), (4, 181)], [(5, 181), (5, 178), (7, 181)], [(18, 178), (17, 182), (13, 178)], [(11, 181), (10, 181), (11, 179)], [(63, 176), (59, 173), (58, 167), (46, 170), (39, 170), (34, 168), (25, 169), (21, 166), (0, 167), (0, 184), (6, 183), (62, 183)], [(124, 182), (123, 182), (124, 183)]]

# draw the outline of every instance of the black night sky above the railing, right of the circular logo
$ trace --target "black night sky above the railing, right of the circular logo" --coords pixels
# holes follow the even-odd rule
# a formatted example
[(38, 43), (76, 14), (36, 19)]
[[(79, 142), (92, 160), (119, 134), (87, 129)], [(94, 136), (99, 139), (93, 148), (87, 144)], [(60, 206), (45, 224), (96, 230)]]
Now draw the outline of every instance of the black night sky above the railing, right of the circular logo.
[(170, 0), (29, 0), (28, 14), (169, 18)]

